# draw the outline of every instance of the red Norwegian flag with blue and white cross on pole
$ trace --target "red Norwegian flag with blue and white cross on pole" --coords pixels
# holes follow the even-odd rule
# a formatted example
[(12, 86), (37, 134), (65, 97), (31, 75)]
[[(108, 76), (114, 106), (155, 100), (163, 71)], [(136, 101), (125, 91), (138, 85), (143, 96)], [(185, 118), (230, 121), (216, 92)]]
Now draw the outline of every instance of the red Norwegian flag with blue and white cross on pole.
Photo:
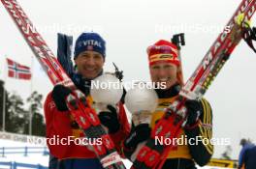
[(20, 65), (11, 59), (6, 59), (8, 64), (8, 76), (16, 79), (31, 79), (31, 71), (29, 67)]

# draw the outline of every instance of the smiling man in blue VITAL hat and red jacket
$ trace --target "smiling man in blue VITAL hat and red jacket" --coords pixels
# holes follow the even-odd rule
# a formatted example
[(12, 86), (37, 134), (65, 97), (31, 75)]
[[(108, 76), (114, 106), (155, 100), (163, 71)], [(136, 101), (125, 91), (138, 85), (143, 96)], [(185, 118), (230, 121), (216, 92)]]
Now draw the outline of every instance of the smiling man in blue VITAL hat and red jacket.
[[(93, 100), (89, 96), (90, 82), (103, 73), (106, 58), (106, 42), (96, 33), (82, 33), (75, 46), (74, 60), (76, 72), (72, 80), (80, 91), (88, 98), (89, 103)], [(65, 103), (66, 97), (72, 91), (62, 85), (54, 86), (45, 102), (45, 116), (47, 123), (47, 138), (64, 140), (67, 138), (83, 138), (84, 134)], [(129, 132), (129, 123), (123, 104), (120, 101), (117, 107), (108, 105), (109, 111), (100, 112), (99, 119), (108, 128), (117, 150), (120, 150), (119, 142)], [(57, 138), (57, 140), (56, 140)], [(61, 169), (102, 169), (96, 155), (90, 148), (78, 145), (75, 142), (51, 143), (48, 140), (50, 155), (59, 159), (58, 167)], [(90, 143), (90, 142), (89, 142)], [(67, 145), (66, 145), (67, 144)], [(90, 144), (96, 144), (92, 142)]]

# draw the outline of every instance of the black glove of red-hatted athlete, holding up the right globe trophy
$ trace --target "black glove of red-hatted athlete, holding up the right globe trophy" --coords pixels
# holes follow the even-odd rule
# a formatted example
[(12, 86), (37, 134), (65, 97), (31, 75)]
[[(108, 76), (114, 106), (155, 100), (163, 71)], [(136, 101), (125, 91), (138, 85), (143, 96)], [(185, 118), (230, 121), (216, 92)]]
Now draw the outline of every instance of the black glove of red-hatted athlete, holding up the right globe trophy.
[(141, 124), (134, 127), (128, 138), (124, 141), (124, 146), (131, 149), (136, 148), (139, 143), (144, 142), (150, 137), (151, 128), (148, 124)]

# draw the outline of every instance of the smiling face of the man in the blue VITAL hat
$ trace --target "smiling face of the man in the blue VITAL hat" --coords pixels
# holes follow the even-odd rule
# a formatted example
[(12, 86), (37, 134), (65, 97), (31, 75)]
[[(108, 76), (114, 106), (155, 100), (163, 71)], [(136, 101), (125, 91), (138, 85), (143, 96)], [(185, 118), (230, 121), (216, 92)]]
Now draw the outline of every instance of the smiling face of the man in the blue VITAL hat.
[(95, 51), (83, 51), (75, 60), (80, 74), (88, 79), (94, 79), (102, 71), (103, 56)]

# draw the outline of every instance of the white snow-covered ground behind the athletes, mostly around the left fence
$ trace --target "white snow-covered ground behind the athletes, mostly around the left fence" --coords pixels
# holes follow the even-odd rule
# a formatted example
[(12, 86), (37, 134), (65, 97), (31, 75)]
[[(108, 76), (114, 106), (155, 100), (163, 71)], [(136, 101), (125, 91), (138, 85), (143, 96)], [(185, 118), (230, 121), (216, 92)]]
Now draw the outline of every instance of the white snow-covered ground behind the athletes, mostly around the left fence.
[[(48, 155), (44, 155), (45, 145), (43, 143), (32, 144), (31, 142), (28, 142), (28, 138), (29, 137), (24, 135), (0, 132), (0, 162), (20, 162), (20, 163), (41, 164), (43, 166), (48, 166)], [(28, 154), (26, 156), (24, 155), (25, 147), (29, 147)], [(30, 149), (31, 147), (33, 147), (34, 149)], [(5, 155), (3, 155), (3, 148), (5, 148), (5, 153), (6, 153)], [(16, 149), (12, 149), (12, 148), (16, 148)], [(14, 152), (16, 153), (19, 152), (19, 153), (14, 154)], [(31, 152), (34, 152), (34, 153), (31, 154)], [(124, 164), (127, 166), (127, 168), (130, 168), (131, 166), (131, 163), (128, 160), (124, 160)], [(4, 166), (1, 166), (1, 165), (0, 165), (0, 168), (6, 169), (4, 168)], [(221, 168), (203, 167), (203, 169), (221, 169)]]

